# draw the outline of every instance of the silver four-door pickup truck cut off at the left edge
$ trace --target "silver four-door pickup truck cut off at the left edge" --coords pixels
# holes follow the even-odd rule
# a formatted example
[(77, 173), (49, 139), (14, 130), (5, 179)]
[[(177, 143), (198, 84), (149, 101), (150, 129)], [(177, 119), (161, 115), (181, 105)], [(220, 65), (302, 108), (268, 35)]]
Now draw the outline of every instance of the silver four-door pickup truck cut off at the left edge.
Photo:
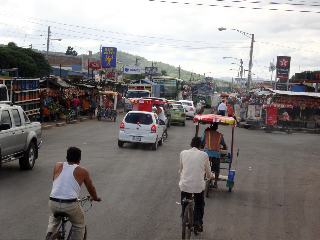
[(31, 122), (21, 106), (0, 103), (0, 167), (19, 159), (21, 169), (31, 170), (41, 146), (41, 124)]

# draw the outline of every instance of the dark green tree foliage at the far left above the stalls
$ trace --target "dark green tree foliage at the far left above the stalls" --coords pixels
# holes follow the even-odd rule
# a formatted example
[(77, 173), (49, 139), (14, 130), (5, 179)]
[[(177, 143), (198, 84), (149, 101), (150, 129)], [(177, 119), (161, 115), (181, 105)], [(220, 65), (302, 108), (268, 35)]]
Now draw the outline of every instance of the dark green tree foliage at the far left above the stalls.
[(8, 43), (0, 47), (0, 68), (18, 68), (19, 77), (44, 77), (51, 68), (43, 54)]

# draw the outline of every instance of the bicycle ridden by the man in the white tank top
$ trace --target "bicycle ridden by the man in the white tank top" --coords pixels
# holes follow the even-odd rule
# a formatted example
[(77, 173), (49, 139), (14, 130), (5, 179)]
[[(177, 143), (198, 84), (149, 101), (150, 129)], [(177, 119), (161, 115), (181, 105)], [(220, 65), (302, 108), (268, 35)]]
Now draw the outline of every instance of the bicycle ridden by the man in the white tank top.
[[(80, 202), (81, 207), (83, 207), (86, 202), (90, 201), (90, 196), (84, 197), (82, 199), (78, 199), (78, 201)], [(91, 203), (90, 208), (87, 209), (85, 212), (87, 212), (88, 210), (91, 209), (92, 202), (90, 201), (90, 203)], [(49, 240), (54, 240), (54, 239), (59, 239), (59, 240), (67, 239), (67, 240), (69, 240), (71, 238), (71, 235), (72, 235), (73, 225), (71, 225), (71, 227), (70, 227), (69, 234), (66, 235), (66, 233), (67, 233), (66, 224), (67, 224), (67, 222), (70, 221), (68, 214), (66, 214), (64, 212), (57, 212), (57, 213), (54, 214), (54, 217), (55, 218), (60, 218), (61, 219), (61, 224), (58, 227), (58, 230), (56, 232), (53, 232), (52, 235), (48, 239)], [(84, 238), (83, 239), (84, 240), (87, 239), (87, 226), (85, 226), (85, 232), (84, 232)]]

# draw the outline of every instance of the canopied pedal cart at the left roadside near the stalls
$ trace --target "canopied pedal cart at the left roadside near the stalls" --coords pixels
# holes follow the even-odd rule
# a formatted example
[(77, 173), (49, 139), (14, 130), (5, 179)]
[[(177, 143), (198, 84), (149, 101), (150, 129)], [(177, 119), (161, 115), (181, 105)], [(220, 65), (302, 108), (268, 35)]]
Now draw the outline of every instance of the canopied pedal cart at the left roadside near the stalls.
[[(98, 105), (97, 119), (100, 121), (101, 118), (104, 117), (104, 119), (111, 119), (115, 122), (117, 118), (118, 93), (112, 91), (100, 91), (99, 96), (100, 102)], [(105, 101), (107, 99), (112, 101), (112, 104), (109, 107), (105, 106)]]

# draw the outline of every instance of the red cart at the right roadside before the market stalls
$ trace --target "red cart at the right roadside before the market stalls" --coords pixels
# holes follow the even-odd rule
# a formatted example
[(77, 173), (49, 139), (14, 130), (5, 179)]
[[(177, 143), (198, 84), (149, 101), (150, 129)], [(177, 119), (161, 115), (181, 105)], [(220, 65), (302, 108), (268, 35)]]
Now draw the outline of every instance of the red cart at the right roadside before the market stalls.
[[(292, 133), (293, 128), (291, 121), (286, 119), (285, 114), (286, 111), (282, 111), (283, 113), (278, 115), (278, 110), (279, 109), (284, 109), (285, 108), (293, 108), (292, 105), (289, 104), (267, 104), (263, 105), (263, 108), (266, 111), (266, 118), (265, 118), (265, 127), (264, 130), (267, 133), (272, 133), (274, 130), (279, 130), (286, 132), (287, 134)], [(290, 118), (290, 116), (288, 115)]]

